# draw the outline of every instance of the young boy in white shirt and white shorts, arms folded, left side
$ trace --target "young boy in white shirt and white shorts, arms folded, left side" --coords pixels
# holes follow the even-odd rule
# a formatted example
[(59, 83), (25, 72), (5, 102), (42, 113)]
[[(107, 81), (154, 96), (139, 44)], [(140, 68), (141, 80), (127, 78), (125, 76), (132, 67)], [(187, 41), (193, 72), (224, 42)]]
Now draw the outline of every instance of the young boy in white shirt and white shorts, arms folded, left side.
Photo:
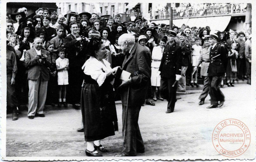
[[(69, 60), (65, 58), (65, 49), (60, 47), (59, 51), (59, 58), (56, 59), (56, 67), (58, 71), (58, 85), (59, 85), (59, 103), (58, 107), (61, 107), (61, 94), (63, 94), (63, 105), (65, 107), (68, 106), (66, 103), (66, 85), (68, 85), (68, 70), (69, 70)], [(63, 90), (63, 93), (62, 93)]]

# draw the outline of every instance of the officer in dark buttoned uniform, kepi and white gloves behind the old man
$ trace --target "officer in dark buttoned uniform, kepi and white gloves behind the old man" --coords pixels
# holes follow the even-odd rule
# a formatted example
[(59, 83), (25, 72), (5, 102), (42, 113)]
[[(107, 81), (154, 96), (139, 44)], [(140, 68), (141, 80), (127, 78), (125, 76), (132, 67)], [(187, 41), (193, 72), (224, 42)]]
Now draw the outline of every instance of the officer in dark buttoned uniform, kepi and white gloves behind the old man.
[(166, 33), (170, 45), (165, 46), (159, 67), (161, 72), (160, 91), (168, 100), (166, 113), (171, 113), (174, 111), (176, 102), (176, 82), (181, 78), (181, 47), (174, 42), (174, 37), (177, 35), (174, 31), (169, 30)]

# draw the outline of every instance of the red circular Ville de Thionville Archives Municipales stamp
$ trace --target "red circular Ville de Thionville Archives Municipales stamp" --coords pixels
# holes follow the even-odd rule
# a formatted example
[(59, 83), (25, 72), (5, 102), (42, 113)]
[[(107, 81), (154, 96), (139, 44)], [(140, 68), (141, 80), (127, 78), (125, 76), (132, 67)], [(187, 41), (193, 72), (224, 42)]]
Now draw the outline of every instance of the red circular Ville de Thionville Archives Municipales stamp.
[(240, 120), (226, 119), (213, 130), (212, 144), (216, 151), (226, 157), (237, 157), (245, 153), (251, 142), (248, 127)]

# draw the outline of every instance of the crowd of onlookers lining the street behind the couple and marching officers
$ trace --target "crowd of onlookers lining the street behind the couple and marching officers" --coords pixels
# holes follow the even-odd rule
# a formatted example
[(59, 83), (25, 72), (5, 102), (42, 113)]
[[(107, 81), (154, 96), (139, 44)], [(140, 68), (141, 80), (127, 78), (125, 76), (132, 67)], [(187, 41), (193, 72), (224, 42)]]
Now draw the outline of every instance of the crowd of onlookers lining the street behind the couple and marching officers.
[[(80, 14), (68, 11), (66, 15), (56, 15), (56, 12), (51, 13), (47, 8), (39, 8), (28, 15), (25, 7), (19, 8), (14, 14), (7, 14), (6, 19), (7, 49), (16, 56), (16, 63), (12, 55), (7, 57), (7, 61), (9, 57), (13, 59), (11, 65), (7, 64), (9, 71), (13, 71), (7, 73), (12, 74), (9, 79), (12, 80), (10, 86), (14, 88), (10, 92), (13, 100), (9, 100), (8, 110), (13, 110), (14, 120), (18, 119), (17, 107), (24, 103), (27, 104), (29, 118), (44, 116), (45, 104), (61, 107), (71, 103), (74, 108), (80, 108), (84, 80), (81, 68), (89, 59), (86, 47), (93, 36), (102, 38), (107, 49), (104, 59), (112, 68), (122, 67), (125, 58), (118, 38), (124, 33), (135, 36), (135, 41), (145, 46), (152, 58), (151, 83), (145, 104), (154, 106), (154, 101), (163, 101), (159, 68), (163, 51), (171, 40), (166, 24), (149, 24), (146, 19), (139, 17), (133, 22), (121, 22), (119, 14), (114, 18), (109, 15), (100, 17), (86, 11)], [(218, 35), (218, 44), (225, 47), (227, 55), (227, 69), (220, 87), (224, 88), (225, 81), (229, 87), (234, 86), (234, 80), (238, 79), (247, 79), (250, 84), (249, 32), (211, 31), (208, 26), (190, 28), (185, 24), (173, 26), (172, 29), (177, 34), (174, 37), (175, 44), (182, 48), (181, 79), (177, 91), (185, 92), (186, 86), (198, 87), (197, 78), (207, 76), (203, 64), (209, 63), (209, 60), (200, 55), (207, 48), (205, 40), (210, 32)], [(118, 89), (115, 89), (115, 100), (120, 100)]]

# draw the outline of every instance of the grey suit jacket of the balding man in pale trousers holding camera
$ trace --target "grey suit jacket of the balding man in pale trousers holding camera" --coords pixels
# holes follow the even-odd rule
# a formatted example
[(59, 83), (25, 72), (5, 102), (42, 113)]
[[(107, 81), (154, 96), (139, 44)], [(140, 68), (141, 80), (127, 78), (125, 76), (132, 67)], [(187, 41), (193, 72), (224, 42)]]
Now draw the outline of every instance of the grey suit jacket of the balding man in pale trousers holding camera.
[(49, 52), (46, 50), (42, 49), (41, 54), (47, 55), (48, 57), (40, 62), (35, 59), (37, 52), (34, 48), (26, 51), (24, 65), (28, 68), (28, 80), (37, 80), (40, 75), (43, 80), (49, 80), (47, 67), (50, 67), (51, 65), (51, 58), (49, 57)]

